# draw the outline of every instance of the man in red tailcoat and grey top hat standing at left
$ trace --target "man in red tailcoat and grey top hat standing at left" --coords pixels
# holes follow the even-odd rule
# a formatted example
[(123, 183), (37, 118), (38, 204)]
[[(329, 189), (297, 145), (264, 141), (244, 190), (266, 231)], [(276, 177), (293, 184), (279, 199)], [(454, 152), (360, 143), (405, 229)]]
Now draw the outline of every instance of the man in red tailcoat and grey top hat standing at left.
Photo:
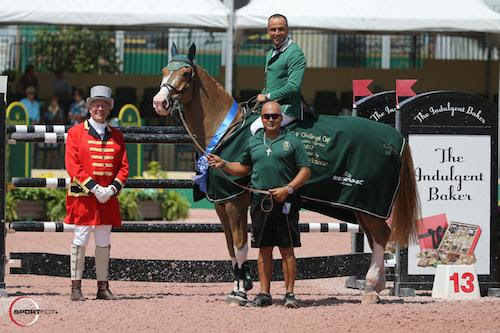
[(113, 300), (108, 284), (110, 237), (112, 227), (121, 226), (117, 195), (128, 178), (129, 164), (122, 133), (106, 122), (114, 104), (111, 88), (92, 87), (86, 102), (90, 119), (71, 127), (66, 141), (65, 164), (71, 183), (64, 222), (75, 225), (70, 299), (86, 299), (81, 283), (85, 249), (93, 232), (97, 299)]

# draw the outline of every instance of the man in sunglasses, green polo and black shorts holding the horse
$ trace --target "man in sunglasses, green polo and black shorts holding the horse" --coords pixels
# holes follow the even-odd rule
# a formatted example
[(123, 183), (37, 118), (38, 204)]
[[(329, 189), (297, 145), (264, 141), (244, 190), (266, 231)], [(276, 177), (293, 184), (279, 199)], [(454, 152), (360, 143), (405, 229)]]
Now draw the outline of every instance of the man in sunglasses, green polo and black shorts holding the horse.
[(252, 218), (251, 246), (259, 248), (258, 270), (260, 293), (251, 305), (272, 304), (271, 278), (273, 273), (273, 248), (278, 246), (285, 277), (285, 306), (299, 306), (294, 295), (297, 262), (294, 247), (299, 247), (300, 198), (297, 190), (311, 175), (310, 163), (302, 141), (293, 133), (281, 128), (283, 116), (280, 105), (270, 101), (262, 107), (264, 130), (252, 136), (239, 162), (227, 162), (209, 154), (212, 167), (236, 176), (250, 172), (252, 187), (267, 190), (271, 200), (262, 194), (252, 193), (250, 215)]

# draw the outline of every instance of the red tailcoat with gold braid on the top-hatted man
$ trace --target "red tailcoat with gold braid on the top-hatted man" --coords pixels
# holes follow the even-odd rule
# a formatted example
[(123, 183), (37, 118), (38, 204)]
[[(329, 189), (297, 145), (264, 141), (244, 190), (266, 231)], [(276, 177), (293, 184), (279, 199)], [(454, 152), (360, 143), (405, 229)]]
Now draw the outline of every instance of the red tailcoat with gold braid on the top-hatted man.
[[(66, 195), (65, 223), (121, 226), (116, 195), (127, 181), (128, 160), (120, 131), (107, 126), (104, 140), (85, 121), (73, 126), (66, 139), (66, 170), (71, 184)], [(90, 192), (95, 185), (113, 184), (118, 193), (101, 204)]]

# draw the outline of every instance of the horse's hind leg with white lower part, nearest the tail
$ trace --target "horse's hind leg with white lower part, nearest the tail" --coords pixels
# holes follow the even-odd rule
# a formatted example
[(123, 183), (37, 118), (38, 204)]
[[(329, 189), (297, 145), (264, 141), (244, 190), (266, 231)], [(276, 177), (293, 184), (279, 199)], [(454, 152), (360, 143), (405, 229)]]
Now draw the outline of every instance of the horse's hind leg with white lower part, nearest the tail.
[(365, 213), (356, 213), (356, 219), (363, 228), (372, 249), (372, 259), (365, 277), (366, 288), (362, 303), (377, 303), (380, 300), (378, 293), (385, 289), (384, 251), (391, 230), (381, 218)]

